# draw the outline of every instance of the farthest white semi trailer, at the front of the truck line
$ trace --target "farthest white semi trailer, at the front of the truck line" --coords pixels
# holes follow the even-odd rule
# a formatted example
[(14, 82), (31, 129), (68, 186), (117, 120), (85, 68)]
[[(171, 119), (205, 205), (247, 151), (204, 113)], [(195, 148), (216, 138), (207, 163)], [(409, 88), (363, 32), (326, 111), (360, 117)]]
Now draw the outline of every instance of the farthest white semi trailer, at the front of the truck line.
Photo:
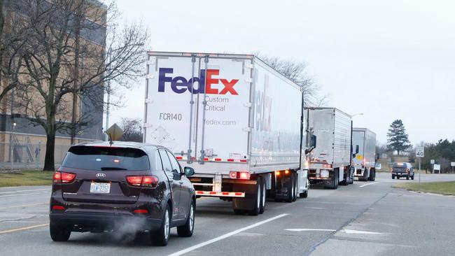
[(352, 129), (352, 145), (358, 147), (353, 158), (354, 176), (358, 180), (374, 180), (376, 178), (376, 134), (366, 128)]

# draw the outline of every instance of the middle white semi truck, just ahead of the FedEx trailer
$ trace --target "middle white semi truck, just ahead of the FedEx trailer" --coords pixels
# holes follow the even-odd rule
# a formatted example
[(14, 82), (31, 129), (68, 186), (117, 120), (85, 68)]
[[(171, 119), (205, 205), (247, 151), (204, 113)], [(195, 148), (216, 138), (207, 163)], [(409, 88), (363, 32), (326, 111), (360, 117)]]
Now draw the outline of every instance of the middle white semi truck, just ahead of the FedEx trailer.
[(308, 155), (309, 180), (324, 187), (353, 183), (351, 169), (351, 115), (337, 108), (306, 107), (307, 132), (318, 138), (318, 145)]

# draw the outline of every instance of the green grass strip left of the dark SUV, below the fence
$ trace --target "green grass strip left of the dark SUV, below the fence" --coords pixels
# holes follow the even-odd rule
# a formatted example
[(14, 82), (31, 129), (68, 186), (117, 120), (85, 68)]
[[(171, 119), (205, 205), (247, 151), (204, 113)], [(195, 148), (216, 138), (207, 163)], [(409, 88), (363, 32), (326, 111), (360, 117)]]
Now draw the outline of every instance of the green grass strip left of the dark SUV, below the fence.
[(0, 187), (51, 185), (53, 175), (53, 171), (0, 172)]

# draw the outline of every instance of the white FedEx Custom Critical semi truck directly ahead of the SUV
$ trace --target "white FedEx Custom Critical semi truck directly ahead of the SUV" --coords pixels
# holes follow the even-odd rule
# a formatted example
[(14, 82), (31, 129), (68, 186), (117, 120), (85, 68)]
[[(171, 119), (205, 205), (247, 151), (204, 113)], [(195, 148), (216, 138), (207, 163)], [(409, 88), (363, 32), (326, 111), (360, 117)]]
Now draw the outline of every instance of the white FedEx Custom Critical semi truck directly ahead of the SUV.
[(148, 52), (146, 73), (144, 141), (195, 169), (197, 197), (251, 215), (266, 197), (307, 197), (316, 138), (303, 132), (298, 85), (253, 55)]

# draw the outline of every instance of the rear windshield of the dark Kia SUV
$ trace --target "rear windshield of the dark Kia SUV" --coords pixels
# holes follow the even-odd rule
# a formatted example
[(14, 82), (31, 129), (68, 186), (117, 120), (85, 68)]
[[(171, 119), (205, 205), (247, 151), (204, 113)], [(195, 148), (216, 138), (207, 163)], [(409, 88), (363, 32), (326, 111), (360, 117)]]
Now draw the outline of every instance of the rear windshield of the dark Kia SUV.
[(62, 167), (94, 171), (149, 170), (146, 152), (136, 148), (74, 146), (68, 150)]

